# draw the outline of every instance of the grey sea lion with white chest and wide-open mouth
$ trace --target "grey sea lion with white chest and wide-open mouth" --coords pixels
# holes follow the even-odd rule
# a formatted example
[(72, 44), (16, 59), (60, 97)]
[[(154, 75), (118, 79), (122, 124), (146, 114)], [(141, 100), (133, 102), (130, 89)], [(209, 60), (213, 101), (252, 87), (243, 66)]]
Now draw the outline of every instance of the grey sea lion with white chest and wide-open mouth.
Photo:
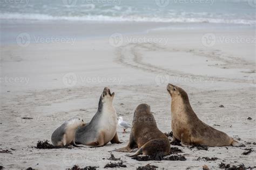
[(117, 136), (117, 113), (113, 107), (114, 93), (105, 87), (99, 98), (98, 111), (90, 123), (76, 132), (76, 142), (84, 145), (99, 147), (120, 141)]

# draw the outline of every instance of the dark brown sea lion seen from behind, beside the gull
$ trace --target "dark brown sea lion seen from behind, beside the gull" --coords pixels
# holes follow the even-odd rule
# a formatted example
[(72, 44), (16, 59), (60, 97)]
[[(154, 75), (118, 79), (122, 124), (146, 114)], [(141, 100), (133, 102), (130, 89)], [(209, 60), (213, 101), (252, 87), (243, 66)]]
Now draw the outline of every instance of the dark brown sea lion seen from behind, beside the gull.
[(170, 153), (170, 141), (167, 136), (157, 128), (157, 123), (151, 113), (150, 106), (140, 104), (134, 111), (130, 140), (126, 147), (119, 148), (118, 152), (132, 152), (139, 150), (130, 157), (139, 154), (167, 155)]

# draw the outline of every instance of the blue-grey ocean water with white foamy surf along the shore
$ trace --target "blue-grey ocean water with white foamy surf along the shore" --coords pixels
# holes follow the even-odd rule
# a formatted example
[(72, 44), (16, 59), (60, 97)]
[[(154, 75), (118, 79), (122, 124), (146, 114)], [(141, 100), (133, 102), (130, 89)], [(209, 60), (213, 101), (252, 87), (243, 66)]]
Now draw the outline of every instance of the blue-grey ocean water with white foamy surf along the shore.
[(0, 19), (255, 25), (254, 0), (0, 0)]

